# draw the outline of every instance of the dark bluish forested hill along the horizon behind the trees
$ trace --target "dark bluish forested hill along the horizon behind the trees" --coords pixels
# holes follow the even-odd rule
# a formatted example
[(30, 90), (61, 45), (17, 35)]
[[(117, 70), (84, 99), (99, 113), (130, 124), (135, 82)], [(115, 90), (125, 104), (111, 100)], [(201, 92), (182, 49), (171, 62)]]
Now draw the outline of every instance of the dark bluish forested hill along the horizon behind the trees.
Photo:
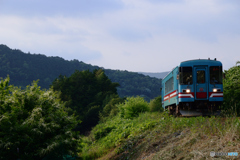
[[(42, 88), (49, 88), (58, 76), (69, 77), (75, 70), (99, 69), (82, 61), (67, 61), (61, 57), (47, 57), (42, 54), (23, 53), (18, 49), (10, 49), (0, 45), (0, 77), (10, 76), (10, 83), (25, 87), (33, 80), (40, 80)], [(104, 69), (104, 68), (102, 68)], [(118, 94), (124, 96), (144, 96), (146, 100), (160, 95), (161, 79), (151, 78), (136, 72), (104, 69), (112, 82), (118, 82)]]

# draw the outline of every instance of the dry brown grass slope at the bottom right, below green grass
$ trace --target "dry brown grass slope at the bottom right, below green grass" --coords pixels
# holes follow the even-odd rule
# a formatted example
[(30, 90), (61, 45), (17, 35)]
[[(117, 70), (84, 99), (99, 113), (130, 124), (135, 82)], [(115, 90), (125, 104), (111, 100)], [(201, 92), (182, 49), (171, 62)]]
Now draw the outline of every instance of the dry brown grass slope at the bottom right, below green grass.
[(112, 150), (103, 159), (116, 160), (205, 160), (205, 159), (240, 159), (236, 156), (211, 157), (210, 152), (238, 152), (240, 154), (240, 139), (235, 133), (225, 136), (192, 133), (189, 129), (170, 135), (159, 135), (156, 131), (149, 132), (136, 142), (128, 142), (124, 152), (116, 155)]

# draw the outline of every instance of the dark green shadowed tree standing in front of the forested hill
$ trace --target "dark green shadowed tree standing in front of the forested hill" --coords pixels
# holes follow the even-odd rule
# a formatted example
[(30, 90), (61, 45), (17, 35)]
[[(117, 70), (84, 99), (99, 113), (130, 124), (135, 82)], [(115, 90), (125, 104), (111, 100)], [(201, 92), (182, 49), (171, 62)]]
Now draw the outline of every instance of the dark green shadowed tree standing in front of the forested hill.
[(106, 98), (117, 94), (118, 83), (112, 83), (102, 69), (75, 71), (70, 77), (60, 75), (52, 88), (61, 92), (61, 99), (82, 121), (76, 130), (88, 131), (99, 121)]

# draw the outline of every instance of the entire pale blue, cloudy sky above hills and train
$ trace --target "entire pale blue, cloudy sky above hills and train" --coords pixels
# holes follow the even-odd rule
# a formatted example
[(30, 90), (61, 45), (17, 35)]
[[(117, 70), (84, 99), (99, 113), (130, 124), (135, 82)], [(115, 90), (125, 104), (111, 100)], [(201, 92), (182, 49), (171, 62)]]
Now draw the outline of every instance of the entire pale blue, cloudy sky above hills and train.
[(240, 61), (240, 0), (0, 0), (0, 44), (106, 69)]

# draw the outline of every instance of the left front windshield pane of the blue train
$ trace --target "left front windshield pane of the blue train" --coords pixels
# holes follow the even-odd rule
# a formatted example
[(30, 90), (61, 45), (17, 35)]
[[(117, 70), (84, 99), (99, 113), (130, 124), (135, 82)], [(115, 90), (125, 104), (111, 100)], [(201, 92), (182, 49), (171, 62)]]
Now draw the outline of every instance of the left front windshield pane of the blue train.
[(179, 67), (179, 83), (192, 84), (192, 67)]

